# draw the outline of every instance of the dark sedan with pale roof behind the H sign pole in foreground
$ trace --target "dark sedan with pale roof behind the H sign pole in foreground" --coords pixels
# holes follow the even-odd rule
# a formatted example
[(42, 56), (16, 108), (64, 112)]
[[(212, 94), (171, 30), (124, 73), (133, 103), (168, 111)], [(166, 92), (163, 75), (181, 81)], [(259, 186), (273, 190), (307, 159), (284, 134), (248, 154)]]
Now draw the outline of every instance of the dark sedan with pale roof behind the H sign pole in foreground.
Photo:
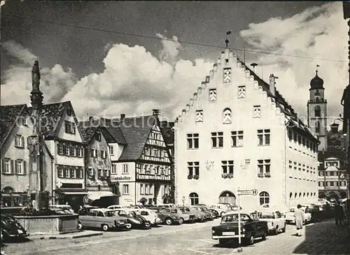
[(242, 243), (250, 245), (259, 237), (266, 240), (267, 221), (260, 221), (255, 213), (241, 212), (241, 233), (239, 233), (238, 216), (238, 212), (224, 214), (220, 225), (211, 228), (211, 237), (214, 240), (219, 240), (222, 245), (228, 244), (230, 241), (237, 241), (239, 236)]

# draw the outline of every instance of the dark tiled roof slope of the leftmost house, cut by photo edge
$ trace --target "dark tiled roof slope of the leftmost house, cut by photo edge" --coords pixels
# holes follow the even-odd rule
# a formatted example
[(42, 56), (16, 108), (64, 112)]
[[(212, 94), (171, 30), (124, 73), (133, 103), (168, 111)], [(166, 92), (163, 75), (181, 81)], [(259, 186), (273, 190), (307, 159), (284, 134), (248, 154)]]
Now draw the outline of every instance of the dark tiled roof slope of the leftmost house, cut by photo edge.
[(27, 104), (0, 106), (0, 148), (5, 144), (15, 126), (16, 120), (23, 111), (28, 111)]

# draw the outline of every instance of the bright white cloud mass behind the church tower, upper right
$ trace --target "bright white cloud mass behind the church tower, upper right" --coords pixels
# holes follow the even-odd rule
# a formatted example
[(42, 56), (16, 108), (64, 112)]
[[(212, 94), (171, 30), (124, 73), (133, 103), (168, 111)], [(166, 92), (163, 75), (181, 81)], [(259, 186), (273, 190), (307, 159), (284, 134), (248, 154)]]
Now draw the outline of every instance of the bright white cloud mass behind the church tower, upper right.
[[(347, 31), (342, 3), (335, 2), (308, 8), (290, 18), (270, 18), (250, 24), (248, 29), (241, 31), (241, 36), (253, 50), (344, 60), (337, 62), (281, 55), (261, 55), (258, 61), (254, 60), (260, 66), (263, 64), (265, 80), (272, 73), (279, 76), (276, 88), (302, 116), (307, 116), (309, 83), (315, 75), (316, 64), (319, 64), (318, 75), (324, 80), (328, 116), (332, 121), (342, 111), (340, 99), (348, 83)], [(260, 71), (257, 72), (260, 74)]]

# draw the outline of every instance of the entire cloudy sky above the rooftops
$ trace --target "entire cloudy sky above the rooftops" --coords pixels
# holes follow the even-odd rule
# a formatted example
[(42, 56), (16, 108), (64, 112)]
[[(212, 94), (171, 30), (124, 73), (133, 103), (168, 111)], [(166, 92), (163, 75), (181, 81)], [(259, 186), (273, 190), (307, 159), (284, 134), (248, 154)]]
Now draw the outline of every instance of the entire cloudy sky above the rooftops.
[(1, 104), (29, 104), (38, 60), (45, 103), (70, 100), (79, 118), (158, 108), (174, 121), (231, 31), (230, 48), (258, 63), (265, 81), (279, 76), (276, 89), (304, 119), (320, 65), (330, 124), (349, 81), (348, 29), (342, 2), (8, 0), (1, 6)]

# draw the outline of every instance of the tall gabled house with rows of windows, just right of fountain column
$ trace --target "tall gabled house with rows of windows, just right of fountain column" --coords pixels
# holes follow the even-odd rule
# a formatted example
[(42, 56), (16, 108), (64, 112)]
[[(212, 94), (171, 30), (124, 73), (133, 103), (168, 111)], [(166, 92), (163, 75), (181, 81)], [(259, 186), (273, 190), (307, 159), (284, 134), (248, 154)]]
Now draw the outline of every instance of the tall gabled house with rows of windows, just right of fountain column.
[[(30, 108), (31, 109), (31, 108)], [(85, 173), (83, 136), (71, 102), (44, 104), (41, 132), (54, 156), (52, 197), (55, 204), (84, 205)]]

